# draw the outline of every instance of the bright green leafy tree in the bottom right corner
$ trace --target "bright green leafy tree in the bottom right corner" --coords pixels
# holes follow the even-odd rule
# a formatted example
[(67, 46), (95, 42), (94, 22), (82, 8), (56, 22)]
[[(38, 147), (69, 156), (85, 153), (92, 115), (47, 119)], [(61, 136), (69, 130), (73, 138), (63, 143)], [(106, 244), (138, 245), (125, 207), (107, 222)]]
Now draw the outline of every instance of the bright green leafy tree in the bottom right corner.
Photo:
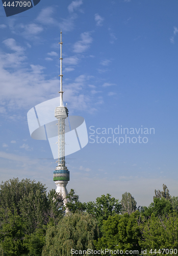
[[(159, 250), (159, 248), (175, 249), (178, 246), (178, 217), (174, 214), (165, 216), (151, 215), (148, 221), (142, 225), (142, 240), (140, 246), (147, 249), (146, 255), (151, 248)], [(166, 253), (167, 254), (167, 253)], [(173, 253), (174, 254), (174, 253)], [(167, 255), (172, 255), (168, 253)]]

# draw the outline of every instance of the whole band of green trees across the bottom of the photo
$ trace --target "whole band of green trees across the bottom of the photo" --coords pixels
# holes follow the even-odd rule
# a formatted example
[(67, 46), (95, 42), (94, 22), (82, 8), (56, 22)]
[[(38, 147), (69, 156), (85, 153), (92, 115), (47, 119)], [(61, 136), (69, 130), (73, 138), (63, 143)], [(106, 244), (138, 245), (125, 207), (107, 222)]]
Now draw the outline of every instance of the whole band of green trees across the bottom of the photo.
[(154, 202), (138, 210), (127, 192), (121, 204), (110, 194), (82, 204), (73, 189), (67, 198), (69, 214), (64, 216), (63, 199), (54, 189), (46, 195), (40, 182), (18, 178), (2, 182), (0, 256), (71, 256), (71, 249), (85, 254), (88, 248), (123, 253), (145, 248), (146, 255), (152, 255), (151, 248), (178, 246), (178, 197), (171, 197), (164, 184), (163, 191), (155, 191)]

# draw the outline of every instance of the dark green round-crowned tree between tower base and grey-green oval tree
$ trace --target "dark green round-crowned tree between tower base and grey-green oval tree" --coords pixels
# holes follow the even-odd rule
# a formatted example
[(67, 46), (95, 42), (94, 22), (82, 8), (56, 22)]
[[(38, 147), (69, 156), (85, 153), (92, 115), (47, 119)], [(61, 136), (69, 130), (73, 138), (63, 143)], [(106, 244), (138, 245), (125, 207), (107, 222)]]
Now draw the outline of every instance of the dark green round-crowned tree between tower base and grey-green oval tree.
[(103, 220), (107, 220), (109, 216), (119, 214), (121, 211), (119, 200), (111, 198), (110, 194), (97, 197), (96, 202), (84, 203), (84, 206), (86, 211), (98, 220), (100, 227), (103, 225)]

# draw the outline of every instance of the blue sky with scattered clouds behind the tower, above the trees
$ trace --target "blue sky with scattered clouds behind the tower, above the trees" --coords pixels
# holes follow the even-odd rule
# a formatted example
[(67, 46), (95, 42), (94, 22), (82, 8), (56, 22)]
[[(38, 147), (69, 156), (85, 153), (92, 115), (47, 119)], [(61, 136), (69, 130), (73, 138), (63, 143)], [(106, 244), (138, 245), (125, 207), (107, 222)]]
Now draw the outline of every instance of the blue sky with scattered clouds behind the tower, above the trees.
[[(99, 137), (66, 157), (68, 191), (82, 202), (107, 193), (120, 200), (128, 191), (138, 206), (164, 183), (177, 196), (177, 8), (176, 0), (41, 0), (6, 17), (2, 6), (0, 180), (30, 178), (56, 188), (49, 143), (30, 137), (27, 112), (58, 96), (62, 29), (64, 102), (69, 115), (85, 118), (88, 135), (94, 126)], [(110, 135), (96, 129), (118, 125), (155, 134), (139, 134), (147, 143), (101, 143)]]

